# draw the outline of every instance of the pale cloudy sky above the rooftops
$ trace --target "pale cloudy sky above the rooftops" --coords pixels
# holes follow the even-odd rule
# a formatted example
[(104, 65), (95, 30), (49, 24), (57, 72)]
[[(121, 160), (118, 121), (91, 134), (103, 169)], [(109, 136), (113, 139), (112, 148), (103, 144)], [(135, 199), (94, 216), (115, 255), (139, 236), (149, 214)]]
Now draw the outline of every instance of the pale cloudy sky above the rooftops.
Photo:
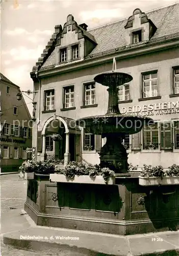
[[(20, 87), (33, 90), (30, 72), (40, 57), (55, 26), (62, 28), (68, 14), (88, 30), (132, 15), (134, 9), (147, 12), (176, 1), (60, 1), (60, 0), (0, 0), (1, 1), (1, 73)], [(155, 20), (153, 21), (155, 23)], [(24, 95), (23, 95), (24, 96)], [(30, 95), (32, 98), (32, 95)], [(32, 114), (32, 100), (24, 96)]]

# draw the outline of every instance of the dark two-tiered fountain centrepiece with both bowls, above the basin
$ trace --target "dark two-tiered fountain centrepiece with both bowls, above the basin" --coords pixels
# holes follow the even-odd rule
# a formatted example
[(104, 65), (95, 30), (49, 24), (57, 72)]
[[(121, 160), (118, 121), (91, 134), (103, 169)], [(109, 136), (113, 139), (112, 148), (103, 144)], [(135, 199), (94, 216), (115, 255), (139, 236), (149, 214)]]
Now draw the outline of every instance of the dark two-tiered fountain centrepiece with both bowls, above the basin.
[[(115, 68), (115, 71), (114, 71)], [(116, 61), (113, 59), (113, 71), (99, 74), (94, 81), (109, 87), (108, 110), (105, 115), (89, 116), (78, 120), (79, 125), (87, 133), (106, 137), (106, 144), (100, 150), (100, 166), (109, 167), (115, 173), (129, 176), (127, 172), (127, 153), (121, 141), (125, 134), (135, 134), (141, 131), (144, 124), (152, 124), (149, 117), (124, 115), (119, 111), (118, 87), (133, 79), (129, 74), (116, 72)]]

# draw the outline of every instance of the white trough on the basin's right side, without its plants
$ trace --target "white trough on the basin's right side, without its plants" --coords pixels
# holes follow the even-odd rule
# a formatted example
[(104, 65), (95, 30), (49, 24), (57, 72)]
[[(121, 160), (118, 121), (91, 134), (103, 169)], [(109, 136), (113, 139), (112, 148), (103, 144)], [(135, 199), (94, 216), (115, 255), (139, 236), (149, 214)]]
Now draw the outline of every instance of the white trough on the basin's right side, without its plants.
[(139, 176), (139, 185), (141, 186), (158, 186), (158, 185), (177, 185), (179, 184), (179, 176), (162, 177), (142, 177)]

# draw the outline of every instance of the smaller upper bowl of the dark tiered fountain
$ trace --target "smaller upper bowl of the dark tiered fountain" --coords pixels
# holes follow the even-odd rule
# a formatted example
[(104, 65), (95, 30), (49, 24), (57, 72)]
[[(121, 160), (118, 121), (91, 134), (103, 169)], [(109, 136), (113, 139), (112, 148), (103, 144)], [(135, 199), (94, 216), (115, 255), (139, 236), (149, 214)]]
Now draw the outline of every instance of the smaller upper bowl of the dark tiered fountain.
[(99, 74), (94, 77), (94, 81), (103, 86), (121, 86), (124, 83), (130, 82), (133, 80), (133, 77), (126, 73), (120, 72), (107, 72), (103, 74)]

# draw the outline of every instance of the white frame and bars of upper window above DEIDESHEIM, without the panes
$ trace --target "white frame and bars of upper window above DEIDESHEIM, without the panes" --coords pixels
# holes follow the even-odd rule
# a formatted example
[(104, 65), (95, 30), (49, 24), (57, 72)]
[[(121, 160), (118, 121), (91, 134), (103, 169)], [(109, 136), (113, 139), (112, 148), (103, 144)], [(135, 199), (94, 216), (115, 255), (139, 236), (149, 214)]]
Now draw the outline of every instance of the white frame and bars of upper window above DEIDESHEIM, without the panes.
[[(151, 75), (153, 74), (157, 74), (157, 78), (151, 78)], [(149, 75), (149, 79), (144, 79), (144, 76)], [(157, 80), (157, 85), (155, 85), (157, 87), (157, 95), (152, 96), (152, 81)], [(145, 82), (149, 82), (149, 96), (145, 96), (146, 92), (144, 89), (146, 88), (144, 86)], [(155, 91), (155, 90), (154, 90)], [(150, 98), (150, 97), (156, 97), (159, 95), (159, 80), (158, 80), (158, 71), (151, 71), (151, 72), (147, 72), (147, 73), (142, 73), (142, 98)]]

